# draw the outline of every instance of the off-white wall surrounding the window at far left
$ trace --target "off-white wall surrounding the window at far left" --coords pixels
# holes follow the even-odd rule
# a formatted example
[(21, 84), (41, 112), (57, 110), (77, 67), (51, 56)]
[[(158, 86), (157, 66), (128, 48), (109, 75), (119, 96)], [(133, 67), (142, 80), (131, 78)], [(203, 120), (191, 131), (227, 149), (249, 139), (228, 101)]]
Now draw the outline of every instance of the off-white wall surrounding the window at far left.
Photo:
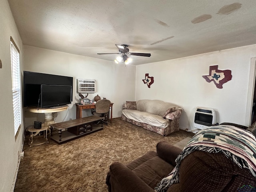
[(24, 126), (15, 140), (14, 114), (12, 105), (12, 70), (10, 58), (10, 36), (20, 50), (22, 66), (22, 41), (14, 23), (7, 0), (0, 1), (0, 192), (10, 192), (18, 172), (18, 153), (23, 147)]

